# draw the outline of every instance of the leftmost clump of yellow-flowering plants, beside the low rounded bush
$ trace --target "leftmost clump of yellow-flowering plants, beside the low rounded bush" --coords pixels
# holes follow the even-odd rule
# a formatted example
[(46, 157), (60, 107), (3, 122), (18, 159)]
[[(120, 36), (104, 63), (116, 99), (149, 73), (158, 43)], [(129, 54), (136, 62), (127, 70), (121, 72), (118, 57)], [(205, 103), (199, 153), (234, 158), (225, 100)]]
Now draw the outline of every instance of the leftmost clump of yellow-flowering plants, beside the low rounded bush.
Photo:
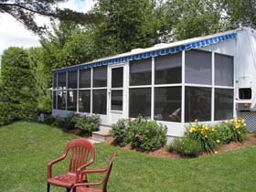
[(197, 140), (203, 149), (208, 153), (214, 153), (214, 149), (219, 143), (219, 136), (214, 127), (209, 127), (207, 124), (195, 123), (188, 127), (187, 137)]

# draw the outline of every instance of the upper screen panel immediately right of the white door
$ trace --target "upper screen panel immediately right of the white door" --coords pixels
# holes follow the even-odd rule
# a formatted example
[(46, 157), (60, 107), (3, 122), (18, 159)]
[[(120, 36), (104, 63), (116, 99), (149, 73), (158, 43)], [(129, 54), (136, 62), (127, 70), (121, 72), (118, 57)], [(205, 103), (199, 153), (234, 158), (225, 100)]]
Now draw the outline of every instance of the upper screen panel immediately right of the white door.
[(130, 85), (150, 85), (152, 59), (140, 59), (130, 62)]

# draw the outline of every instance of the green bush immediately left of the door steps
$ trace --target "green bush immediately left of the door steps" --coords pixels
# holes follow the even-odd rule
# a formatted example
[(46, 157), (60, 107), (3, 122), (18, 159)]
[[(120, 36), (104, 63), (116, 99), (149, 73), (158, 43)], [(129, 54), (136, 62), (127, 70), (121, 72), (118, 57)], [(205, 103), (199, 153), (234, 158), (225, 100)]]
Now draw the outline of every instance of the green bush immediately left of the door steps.
[(75, 128), (79, 128), (83, 133), (91, 133), (99, 130), (100, 119), (97, 115), (74, 116), (72, 118)]

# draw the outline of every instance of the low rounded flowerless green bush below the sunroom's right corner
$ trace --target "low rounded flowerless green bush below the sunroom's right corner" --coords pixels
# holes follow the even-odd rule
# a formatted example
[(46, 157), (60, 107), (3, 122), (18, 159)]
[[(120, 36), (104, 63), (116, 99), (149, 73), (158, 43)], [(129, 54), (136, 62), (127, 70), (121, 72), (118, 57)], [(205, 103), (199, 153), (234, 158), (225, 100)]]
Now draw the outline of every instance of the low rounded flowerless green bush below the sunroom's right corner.
[(176, 151), (176, 153), (185, 156), (197, 156), (201, 153), (201, 144), (192, 138), (184, 137), (177, 138), (173, 143), (167, 146), (169, 152)]

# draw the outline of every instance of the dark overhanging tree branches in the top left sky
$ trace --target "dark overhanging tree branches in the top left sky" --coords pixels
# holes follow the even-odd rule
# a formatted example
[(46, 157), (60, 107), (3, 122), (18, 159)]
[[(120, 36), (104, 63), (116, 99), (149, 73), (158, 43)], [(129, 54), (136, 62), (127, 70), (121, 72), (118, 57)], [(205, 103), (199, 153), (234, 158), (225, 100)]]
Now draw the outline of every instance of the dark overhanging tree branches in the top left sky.
[(97, 23), (101, 18), (92, 14), (75, 12), (68, 8), (59, 9), (58, 4), (67, 0), (0, 0), (0, 13), (14, 16), (29, 30), (41, 33), (45, 27), (38, 27), (35, 16), (48, 16), (59, 20), (73, 21), (80, 24)]

